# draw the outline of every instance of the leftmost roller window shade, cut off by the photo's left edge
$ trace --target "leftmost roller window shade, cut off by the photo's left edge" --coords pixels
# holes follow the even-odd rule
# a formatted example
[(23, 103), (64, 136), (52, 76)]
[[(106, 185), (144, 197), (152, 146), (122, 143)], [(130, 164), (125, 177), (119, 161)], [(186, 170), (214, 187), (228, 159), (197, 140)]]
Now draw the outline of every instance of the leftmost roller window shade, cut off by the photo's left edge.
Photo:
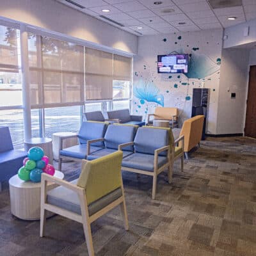
[(19, 73), (18, 31), (0, 25), (0, 72)]

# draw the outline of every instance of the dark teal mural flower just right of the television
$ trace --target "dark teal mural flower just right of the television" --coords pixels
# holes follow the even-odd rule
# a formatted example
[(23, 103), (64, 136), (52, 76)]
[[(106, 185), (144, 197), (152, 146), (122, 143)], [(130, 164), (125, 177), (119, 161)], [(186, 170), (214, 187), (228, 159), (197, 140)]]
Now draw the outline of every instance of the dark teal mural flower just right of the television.
[(190, 56), (186, 76), (188, 78), (202, 79), (211, 76), (218, 70), (220, 70), (220, 65), (212, 61), (208, 56), (193, 52)]

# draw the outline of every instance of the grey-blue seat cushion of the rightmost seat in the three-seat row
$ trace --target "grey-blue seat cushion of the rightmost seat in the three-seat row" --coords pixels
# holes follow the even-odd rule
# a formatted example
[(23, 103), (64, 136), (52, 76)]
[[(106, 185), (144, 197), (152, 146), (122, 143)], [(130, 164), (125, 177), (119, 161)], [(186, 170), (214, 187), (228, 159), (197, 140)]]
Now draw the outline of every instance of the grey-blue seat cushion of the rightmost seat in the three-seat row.
[[(165, 163), (167, 163), (167, 157), (158, 156), (157, 167), (160, 168)], [(153, 172), (154, 171), (154, 155), (134, 153), (127, 156), (122, 161), (123, 167), (129, 167), (144, 171)]]

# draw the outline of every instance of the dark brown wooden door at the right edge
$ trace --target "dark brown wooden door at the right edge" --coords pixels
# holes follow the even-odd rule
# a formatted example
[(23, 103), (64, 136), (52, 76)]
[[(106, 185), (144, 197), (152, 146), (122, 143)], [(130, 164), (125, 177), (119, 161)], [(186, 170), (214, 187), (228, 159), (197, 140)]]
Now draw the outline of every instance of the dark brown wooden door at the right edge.
[(250, 67), (244, 135), (256, 139), (256, 66)]

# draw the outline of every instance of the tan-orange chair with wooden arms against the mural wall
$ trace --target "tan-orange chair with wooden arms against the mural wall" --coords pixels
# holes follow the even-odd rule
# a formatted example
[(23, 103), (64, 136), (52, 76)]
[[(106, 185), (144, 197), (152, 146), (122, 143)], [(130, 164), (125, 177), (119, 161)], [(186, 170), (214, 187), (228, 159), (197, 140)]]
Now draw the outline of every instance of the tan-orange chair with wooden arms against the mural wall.
[[(150, 117), (153, 116), (153, 119)], [(178, 109), (177, 108), (162, 108), (157, 107), (155, 109), (154, 114), (148, 114), (147, 125), (152, 125), (153, 120), (168, 120), (170, 127), (178, 127), (179, 126), (179, 116), (178, 116)]]

